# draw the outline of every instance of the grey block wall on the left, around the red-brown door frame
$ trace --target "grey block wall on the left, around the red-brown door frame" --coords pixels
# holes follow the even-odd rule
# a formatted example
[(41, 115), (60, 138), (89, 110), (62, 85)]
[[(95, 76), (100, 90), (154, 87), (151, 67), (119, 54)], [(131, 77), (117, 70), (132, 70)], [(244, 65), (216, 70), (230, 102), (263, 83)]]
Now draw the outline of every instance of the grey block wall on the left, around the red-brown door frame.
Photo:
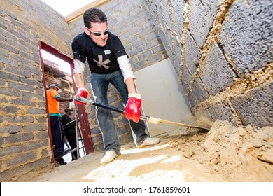
[(50, 168), (48, 118), (39, 41), (71, 56), (62, 15), (38, 0), (5, 0), (0, 8), (0, 179)]

